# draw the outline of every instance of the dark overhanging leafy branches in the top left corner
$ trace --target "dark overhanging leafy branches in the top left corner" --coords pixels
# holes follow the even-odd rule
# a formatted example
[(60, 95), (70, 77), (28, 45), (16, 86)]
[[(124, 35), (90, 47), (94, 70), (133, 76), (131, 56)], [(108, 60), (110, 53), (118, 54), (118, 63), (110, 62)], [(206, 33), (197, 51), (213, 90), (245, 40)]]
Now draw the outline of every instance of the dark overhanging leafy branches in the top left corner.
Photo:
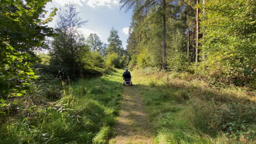
[(14, 47), (15, 50), (31, 52), (43, 46), (45, 37), (53, 36), (53, 28), (45, 26), (53, 20), (56, 14), (54, 9), (49, 17), (45, 17), (47, 11), (44, 10), (46, 3), (43, 1), (3, 0), (0, 4), (1, 34), (0, 41), (5, 41)]

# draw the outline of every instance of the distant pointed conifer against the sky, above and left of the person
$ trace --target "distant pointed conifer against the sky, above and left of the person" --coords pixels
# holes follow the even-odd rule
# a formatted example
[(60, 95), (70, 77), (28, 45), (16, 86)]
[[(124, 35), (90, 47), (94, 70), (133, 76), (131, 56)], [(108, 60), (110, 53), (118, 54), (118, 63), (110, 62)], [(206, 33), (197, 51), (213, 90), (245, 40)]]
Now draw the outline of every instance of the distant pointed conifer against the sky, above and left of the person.
[(106, 49), (106, 54), (109, 55), (113, 52), (118, 53), (118, 56), (123, 55), (122, 41), (119, 39), (118, 31), (112, 27), (108, 37), (108, 47)]

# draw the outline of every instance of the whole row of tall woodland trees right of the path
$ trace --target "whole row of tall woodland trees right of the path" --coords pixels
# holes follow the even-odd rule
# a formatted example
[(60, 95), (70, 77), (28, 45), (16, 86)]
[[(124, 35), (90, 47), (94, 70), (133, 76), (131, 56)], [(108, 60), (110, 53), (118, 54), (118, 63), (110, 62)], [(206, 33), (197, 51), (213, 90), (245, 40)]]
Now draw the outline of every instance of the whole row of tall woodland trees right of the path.
[(133, 8), (127, 46), (132, 67), (165, 69), (166, 27), (167, 70), (190, 71), (212, 82), (244, 85), (252, 81), (254, 1), (120, 2), (122, 8)]

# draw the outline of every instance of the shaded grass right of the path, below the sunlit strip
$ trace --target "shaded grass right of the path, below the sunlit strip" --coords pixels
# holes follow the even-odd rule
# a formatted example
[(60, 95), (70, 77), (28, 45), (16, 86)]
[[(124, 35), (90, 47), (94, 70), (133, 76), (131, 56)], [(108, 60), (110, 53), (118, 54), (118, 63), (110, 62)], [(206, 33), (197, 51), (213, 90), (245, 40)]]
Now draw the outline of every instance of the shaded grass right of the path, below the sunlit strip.
[(159, 141), (212, 143), (222, 133), (247, 132), (255, 140), (249, 132), (256, 124), (255, 101), (249, 98), (173, 83), (138, 87)]

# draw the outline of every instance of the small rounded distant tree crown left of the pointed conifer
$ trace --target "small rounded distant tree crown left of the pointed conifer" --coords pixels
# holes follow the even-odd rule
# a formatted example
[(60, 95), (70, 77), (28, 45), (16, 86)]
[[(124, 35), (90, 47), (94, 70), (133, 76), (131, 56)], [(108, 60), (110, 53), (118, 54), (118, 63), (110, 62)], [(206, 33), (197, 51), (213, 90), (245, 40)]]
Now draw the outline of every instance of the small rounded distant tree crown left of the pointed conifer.
[(96, 33), (89, 35), (86, 44), (89, 45), (91, 51), (102, 51), (103, 43)]

